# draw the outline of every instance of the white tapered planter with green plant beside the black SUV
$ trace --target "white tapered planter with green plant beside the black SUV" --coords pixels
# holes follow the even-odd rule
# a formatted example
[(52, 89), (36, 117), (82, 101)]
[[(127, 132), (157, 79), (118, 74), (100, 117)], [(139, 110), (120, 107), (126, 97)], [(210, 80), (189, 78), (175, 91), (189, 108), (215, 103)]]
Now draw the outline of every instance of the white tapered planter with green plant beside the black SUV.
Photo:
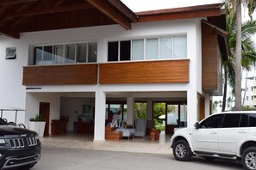
[(29, 119), (28, 129), (37, 132), (39, 137), (44, 136), (46, 126), (46, 118), (36, 115), (35, 118)]

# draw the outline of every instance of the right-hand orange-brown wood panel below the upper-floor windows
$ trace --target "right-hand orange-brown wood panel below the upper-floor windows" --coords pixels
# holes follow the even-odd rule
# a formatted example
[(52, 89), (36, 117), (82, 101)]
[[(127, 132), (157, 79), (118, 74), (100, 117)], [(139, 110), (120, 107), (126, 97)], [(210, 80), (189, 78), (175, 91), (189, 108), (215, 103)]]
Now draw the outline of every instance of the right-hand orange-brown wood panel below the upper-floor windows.
[(100, 84), (189, 82), (189, 59), (99, 66)]

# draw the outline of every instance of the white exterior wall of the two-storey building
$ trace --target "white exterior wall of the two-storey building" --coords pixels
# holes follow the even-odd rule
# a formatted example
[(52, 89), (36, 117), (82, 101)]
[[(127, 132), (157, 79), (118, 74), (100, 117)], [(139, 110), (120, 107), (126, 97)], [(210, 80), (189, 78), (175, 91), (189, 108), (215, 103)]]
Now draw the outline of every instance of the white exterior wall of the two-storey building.
[[(38, 106), (34, 104), (37, 100), (45, 99), (51, 102), (53, 115), (51, 119), (59, 118), (60, 94), (47, 94), (42, 97), (37, 94), (27, 93), (22, 86), (22, 66), (28, 65), (28, 46), (62, 44), (67, 42), (97, 41), (97, 63), (107, 62), (107, 43), (113, 39), (151, 38), (164, 35), (187, 34), (187, 54), (190, 58), (190, 83), (153, 83), (153, 84), (124, 84), (124, 85), (79, 85), (79, 86), (40, 86), (41, 89), (27, 90), (27, 92), (96, 92), (96, 118), (105, 115), (104, 109), (97, 108), (103, 104), (103, 96), (108, 92), (166, 92), (187, 91), (188, 100), (188, 126), (191, 127), (197, 120), (197, 91), (202, 93), (202, 66), (201, 66), (201, 19), (187, 19), (175, 21), (158, 21), (147, 23), (136, 23), (132, 30), (125, 30), (119, 25), (103, 27), (82, 27), (43, 31), (34, 33), (22, 33), (21, 39), (8, 39), (0, 36), (0, 77), (6, 82), (0, 83), (0, 106), (18, 106), (26, 108), (26, 123), (28, 118), (34, 117), (38, 112)], [(3, 58), (6, 47), (16, 47), (17, 57), (15, 60)], [(195, 71), (196, 70), (196, 71)], [(97, 92), (100, 92), (97, 94)], [(25, 100), (27, 99), (27, 100)], [(57, 108), (58, 107), (58, 108)], [(51, 108), (52, 109), (52, 108)], [(97, 114), (97, 112), (100, 112)], [(104, 118), (103, 118), (104, 119)], [(103, 119), (96, 120), (96, 129), (103, 130), (98, 126)], [(97, 132), (95, 139), (103, 140), (104, 132)]]

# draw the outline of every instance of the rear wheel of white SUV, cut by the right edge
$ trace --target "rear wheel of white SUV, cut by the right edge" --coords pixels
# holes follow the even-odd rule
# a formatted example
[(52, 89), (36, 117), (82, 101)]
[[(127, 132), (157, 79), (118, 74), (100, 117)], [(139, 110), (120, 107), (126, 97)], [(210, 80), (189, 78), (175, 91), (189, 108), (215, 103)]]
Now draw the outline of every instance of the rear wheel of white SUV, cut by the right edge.
[(241, 157), (241, 163), (244, 169), (256, 169), (256, 147), (249, 147), (243, 152)]

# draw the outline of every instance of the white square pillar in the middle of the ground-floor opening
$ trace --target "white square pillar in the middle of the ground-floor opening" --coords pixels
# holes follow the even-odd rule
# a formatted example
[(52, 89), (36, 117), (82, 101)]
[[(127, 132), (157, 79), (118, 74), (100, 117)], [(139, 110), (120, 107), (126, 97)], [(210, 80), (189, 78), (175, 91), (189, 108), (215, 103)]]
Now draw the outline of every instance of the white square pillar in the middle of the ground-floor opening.
[(105, 140), (105, 112), (106, 94), (97, 91), (95, 94), (95, 122), (94, 122), (94, 141)]

